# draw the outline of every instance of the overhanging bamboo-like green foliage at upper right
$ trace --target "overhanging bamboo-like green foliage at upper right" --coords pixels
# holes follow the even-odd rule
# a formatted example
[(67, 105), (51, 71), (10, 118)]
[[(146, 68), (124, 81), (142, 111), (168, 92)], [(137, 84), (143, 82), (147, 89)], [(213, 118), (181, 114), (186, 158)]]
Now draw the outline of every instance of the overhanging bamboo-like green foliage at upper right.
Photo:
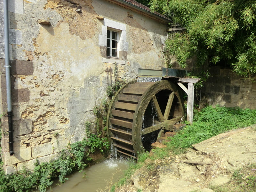
[(186, 28), (165, 43), (165, 54), (175, 55), (181, 67), (196, 56), (199, 68), (210, 61), (242, 76), (256, 74), (255, 0), (151, 0), (150, 5)]

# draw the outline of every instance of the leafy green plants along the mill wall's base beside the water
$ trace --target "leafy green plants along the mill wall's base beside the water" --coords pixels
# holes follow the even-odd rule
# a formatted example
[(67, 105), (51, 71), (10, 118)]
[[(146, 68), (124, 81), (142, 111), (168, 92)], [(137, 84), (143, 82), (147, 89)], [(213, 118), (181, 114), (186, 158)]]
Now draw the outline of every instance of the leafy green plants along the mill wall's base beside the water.
[(86, 122), (86, 135), (82, 141), (69, 144), (66, 150), (59, 154), (59, 158), (47, 163), (35, 163), (34, 172), (22, 170), (16, 174), (6, 175), (0, 169), (0, 191), (28, 192), (37, 188), (40, 192), (46, 191), (56, 178), (60, 182), (68, 180), (68, 174), (84, 169), (92, 161), (90, 154), (100, 151), (106, 152), (109, 143), (106, 138), (100, 138), (90, 132), (91, 123)]

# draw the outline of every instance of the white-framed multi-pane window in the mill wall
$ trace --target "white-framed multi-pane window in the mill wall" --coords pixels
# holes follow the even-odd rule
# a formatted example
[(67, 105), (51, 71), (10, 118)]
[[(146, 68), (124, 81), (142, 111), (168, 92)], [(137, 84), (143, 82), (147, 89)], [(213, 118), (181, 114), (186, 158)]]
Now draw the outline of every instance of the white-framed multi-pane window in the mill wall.
[(107, 29), (107, 56), (118, 57), (117, 52), (118, 32)]

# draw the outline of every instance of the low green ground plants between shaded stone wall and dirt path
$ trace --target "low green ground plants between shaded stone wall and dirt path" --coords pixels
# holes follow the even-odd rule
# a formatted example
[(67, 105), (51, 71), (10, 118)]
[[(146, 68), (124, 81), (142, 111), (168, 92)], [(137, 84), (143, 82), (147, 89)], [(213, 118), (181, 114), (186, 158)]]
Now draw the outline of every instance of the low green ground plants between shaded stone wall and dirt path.
[(242, 128), (256, 122), (256, 110), (241, 108), (213, 108), (208, 106), (201, 111), (194, 111), (193, 124), (187, 125), (170, 142), (168, 150), (179, 151), (195, 143), (228, 130)]

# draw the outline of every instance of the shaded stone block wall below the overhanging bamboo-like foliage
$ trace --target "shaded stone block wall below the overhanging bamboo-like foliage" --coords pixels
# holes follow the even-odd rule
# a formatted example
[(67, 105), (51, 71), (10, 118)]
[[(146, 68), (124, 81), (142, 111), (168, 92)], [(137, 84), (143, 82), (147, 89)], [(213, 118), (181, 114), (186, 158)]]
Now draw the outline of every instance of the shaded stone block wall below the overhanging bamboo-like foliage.
[(231, 69), (209, 68), (211, 76), (202, 89), (201, 106), (256, 108), (256, 83), (239, 77)]

